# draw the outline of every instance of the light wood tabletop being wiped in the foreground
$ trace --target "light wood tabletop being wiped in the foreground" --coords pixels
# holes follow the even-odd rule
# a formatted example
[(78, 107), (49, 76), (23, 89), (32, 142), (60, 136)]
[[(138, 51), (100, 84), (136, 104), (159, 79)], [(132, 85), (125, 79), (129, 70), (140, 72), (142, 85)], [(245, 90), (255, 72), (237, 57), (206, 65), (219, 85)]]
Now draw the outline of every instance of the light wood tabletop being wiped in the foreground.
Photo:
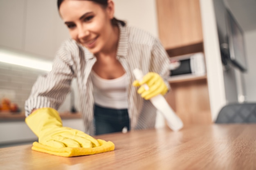
[(256, 124), (188, 126), (95, 136), (115, 150), (81, 157), (59, 157), (31, 145), (0, 148), (1, 170), (253, 170)]

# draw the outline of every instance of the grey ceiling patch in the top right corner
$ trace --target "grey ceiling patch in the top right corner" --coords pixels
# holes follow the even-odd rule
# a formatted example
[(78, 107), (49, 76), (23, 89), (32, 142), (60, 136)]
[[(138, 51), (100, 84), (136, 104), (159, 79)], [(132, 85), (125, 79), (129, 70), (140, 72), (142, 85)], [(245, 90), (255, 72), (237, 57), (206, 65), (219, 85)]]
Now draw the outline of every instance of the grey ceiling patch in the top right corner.
[(226, 0), (227, 6), (244, 31), (256, 30), (256, 0)]

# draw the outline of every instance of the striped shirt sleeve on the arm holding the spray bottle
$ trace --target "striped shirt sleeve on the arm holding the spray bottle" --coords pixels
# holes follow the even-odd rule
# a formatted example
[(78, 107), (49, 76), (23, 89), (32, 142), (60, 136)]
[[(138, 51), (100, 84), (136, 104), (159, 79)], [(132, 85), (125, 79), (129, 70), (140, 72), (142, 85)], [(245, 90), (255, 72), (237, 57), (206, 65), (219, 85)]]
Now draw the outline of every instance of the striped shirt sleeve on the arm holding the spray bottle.
[(170, 60), (164, 46), (162, 46), (158, 39), (155, 39), (155, 43), (153, 45), (151, 61), (151, 68), (153, 72), (158, 73), (164, 79), (168, 90), (170, 90), (170, 84), (168, 83), (168, 77), (170, 75)]

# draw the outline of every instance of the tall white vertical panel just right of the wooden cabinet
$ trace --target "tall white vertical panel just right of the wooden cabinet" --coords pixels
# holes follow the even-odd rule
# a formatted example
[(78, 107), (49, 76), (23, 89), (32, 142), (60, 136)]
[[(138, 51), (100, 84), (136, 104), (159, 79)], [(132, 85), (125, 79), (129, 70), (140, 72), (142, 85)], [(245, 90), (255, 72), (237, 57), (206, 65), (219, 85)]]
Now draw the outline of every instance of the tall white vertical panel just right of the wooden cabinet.
[(200, 0), (200, 9), (211, 117), (212, 120), (215, 121), (220, 109), (225, 106), (227, 102), (213, 1)]

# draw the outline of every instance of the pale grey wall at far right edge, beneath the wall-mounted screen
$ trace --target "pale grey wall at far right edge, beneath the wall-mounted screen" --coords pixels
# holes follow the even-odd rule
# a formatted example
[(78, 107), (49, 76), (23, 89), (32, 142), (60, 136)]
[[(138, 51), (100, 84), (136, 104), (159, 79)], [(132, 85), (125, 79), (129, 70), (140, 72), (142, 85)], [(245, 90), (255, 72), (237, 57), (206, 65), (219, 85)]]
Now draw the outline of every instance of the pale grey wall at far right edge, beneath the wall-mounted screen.
[(256, 102), (256, 30), (245, 32), (248, 72), (244, 74), (248, 102)]

